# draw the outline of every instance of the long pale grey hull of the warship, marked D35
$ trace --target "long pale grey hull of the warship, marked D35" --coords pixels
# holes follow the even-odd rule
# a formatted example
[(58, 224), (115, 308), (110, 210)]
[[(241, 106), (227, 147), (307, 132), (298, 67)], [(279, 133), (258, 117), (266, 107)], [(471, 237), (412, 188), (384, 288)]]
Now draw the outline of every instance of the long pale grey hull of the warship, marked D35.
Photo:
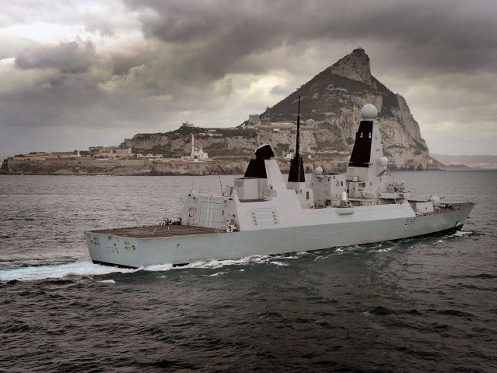
[[(165, 263), (181, 265), (361, 245), (461, 229), (473, 206), (467, 203), (457, 210), (417, 217), (353, 219), (233, 233), (130, 238), (88, 231), (85, 237), (95, 263), (133, 268)], [(98, 245), (90, 242), (94, 237), (98, 237)], [(135, 250), (130, 250), (130, 246)]]

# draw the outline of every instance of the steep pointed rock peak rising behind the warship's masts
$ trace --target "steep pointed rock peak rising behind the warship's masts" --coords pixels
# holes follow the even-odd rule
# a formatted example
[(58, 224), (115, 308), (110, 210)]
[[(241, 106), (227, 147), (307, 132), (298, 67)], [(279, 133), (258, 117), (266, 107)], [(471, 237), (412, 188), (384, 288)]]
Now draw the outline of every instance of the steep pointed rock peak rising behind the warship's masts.
[(268, 108), (262, 123), (295, 120), (301, 96), (302, 120), (314, 123), (316, 147), (347, 149), (357, 131), (361, 107), (378, 109), (384, 152), (405, 169), (424, 169), (428, 148), (404, 97), (393, 93), (371, 75), (369, 57), (361, 48), (343, 57), (309, 82)]

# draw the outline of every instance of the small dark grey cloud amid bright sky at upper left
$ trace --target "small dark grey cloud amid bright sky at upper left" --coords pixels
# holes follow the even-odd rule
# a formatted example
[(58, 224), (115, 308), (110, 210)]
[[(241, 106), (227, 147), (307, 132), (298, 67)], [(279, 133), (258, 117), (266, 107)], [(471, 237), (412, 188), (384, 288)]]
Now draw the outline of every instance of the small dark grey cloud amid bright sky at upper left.
[(26, 49), (15, 59), (20, 69), (59, 69), (63, 73), (81, 73), (88, 70), (95, 58), (91, 41), (60, 43), (56, 47)]

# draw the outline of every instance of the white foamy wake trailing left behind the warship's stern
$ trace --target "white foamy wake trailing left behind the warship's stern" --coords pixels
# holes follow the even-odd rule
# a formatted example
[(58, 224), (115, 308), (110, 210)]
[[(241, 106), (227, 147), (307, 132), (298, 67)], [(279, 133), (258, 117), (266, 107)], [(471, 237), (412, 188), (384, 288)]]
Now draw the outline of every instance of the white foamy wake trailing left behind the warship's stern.
[(135, 272), (137, 270), (123, 269), (117, 267), (100, 266), (91, 262), (74, 262), (49, 266), (33, 266), (13, 268), (0, 271), (0, 280), (43, 280), (43, 279), (61, 279), (66, 276), (92, 276), (105, 275), (113, 272)]

